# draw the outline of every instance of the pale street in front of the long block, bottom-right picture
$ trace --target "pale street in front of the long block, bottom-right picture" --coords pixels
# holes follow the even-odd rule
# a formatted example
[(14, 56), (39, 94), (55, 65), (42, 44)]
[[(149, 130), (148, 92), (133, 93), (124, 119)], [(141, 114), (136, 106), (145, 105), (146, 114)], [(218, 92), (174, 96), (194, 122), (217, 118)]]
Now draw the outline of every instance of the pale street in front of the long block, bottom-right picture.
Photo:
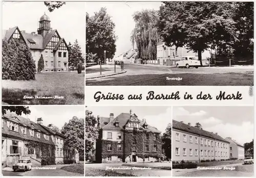
[[(173, 176), (203, 176), (203, 177), (247, 177), (253, 176), (253, 164), (252, 165), (244, 165), (242, 163), (233, 164), (228, 166), (215, 166), (221, 167), (220, 170), (199, 170), (195, 169), (186, 169), (186, 170), (173, 170)], [(224, 168), (225, 167), (225, 168)], [(207, 167), (205, 167), (207, 168)]]

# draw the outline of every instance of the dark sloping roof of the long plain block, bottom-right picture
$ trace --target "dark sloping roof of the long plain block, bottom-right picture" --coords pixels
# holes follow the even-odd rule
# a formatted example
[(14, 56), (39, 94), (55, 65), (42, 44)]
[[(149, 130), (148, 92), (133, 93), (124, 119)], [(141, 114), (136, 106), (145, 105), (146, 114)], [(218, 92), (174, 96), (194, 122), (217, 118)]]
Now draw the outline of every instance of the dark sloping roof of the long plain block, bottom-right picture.
[(180, 131), (196, 134), (199, 136), (209, 137), (211, 139), (229, 143), (227, 140), (225, 140), (224, 138), (222, 138), (221, 136), (219, 136), (217, 134), (198, 129), (195, 126), (189, 126), (188, 124), (185, 124), (185, 123), (182, 123), (182, 122), (179, 122), (176, 120), (173, 120), (173, 129), (177, 129)]

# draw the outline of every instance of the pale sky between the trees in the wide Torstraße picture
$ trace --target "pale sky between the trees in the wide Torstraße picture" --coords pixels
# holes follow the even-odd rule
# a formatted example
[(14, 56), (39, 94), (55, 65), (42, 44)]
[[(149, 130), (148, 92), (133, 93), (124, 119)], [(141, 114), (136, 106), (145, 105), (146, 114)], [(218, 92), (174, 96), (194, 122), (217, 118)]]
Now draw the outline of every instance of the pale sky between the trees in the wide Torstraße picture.
[(115, 34), (118, 36), (116, 41), (116, 54), (118, 56), (133, 48), (130, 40), (132, 30), (135, 28), (133, 14), (142, 9), (159, 10), (161, 2), (86, 2), (86, 11), (89, 16), (98, 12), (101, 7), (105, 7), (107, 13), (115, 23)]

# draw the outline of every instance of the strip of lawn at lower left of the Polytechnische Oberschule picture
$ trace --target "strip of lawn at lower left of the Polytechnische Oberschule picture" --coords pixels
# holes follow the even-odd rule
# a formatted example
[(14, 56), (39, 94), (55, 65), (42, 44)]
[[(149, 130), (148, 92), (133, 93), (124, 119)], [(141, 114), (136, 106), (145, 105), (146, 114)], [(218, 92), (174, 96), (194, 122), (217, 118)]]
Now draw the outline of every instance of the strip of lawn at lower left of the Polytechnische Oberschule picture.
[(136, 176), (132, 174), (126, 173), (118, 173), (112, 170), (101, 170), (101, 169), (93, 169), (93, 168), (86, 168), (86, 176), (122, 176), (122, 177), (131, 177)]

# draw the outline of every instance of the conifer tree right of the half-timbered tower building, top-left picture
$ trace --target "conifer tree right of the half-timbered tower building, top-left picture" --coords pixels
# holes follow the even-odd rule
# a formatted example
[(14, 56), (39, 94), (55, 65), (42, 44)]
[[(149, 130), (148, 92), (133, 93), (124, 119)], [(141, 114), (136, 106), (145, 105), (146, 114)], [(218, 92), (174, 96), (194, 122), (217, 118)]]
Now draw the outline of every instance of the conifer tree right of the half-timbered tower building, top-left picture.
[(73, 45), (69, 43), (68, 46), (69, 46), (69, 65), (77, 67), (80, 61), (84, 62), (84, 58), (82, 57), (81, 46), (78, 44), (77, 39), (75, 40)]

